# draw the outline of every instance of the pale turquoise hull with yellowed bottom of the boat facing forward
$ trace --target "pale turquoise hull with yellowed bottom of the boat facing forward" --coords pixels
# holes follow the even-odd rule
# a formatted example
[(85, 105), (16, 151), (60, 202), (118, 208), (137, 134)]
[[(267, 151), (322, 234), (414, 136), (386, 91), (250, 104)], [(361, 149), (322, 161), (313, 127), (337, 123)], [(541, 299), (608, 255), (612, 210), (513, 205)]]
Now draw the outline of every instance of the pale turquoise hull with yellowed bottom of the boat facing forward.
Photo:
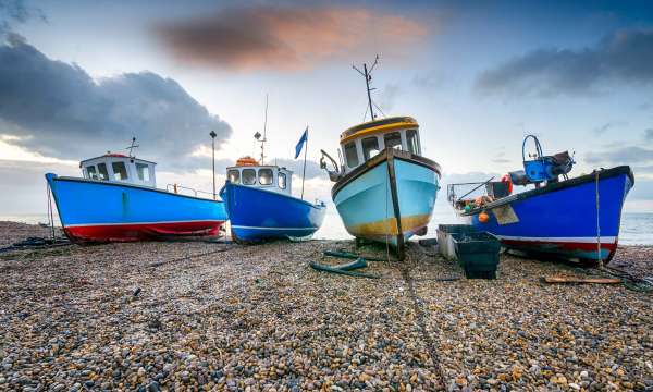
[(435, 162), (386, 149), (341, 179), (332, 196), (349, 234), (390, 244), (403, 259), (405, 242), (426, 234), (439, 181)]

